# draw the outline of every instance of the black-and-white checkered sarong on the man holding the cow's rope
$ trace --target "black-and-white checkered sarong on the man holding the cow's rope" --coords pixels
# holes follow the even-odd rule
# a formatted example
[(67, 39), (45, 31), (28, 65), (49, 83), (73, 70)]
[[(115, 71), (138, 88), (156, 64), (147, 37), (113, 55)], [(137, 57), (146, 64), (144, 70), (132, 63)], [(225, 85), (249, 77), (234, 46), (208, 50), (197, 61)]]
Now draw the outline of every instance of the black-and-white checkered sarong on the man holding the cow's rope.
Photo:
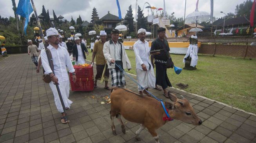
[(111, 74), (111, 86), (123, 88), (126, 85), (123, 72), (121, 72), (120, 70), (115, 70), (114, 68), (111, 68), (109, 70)]

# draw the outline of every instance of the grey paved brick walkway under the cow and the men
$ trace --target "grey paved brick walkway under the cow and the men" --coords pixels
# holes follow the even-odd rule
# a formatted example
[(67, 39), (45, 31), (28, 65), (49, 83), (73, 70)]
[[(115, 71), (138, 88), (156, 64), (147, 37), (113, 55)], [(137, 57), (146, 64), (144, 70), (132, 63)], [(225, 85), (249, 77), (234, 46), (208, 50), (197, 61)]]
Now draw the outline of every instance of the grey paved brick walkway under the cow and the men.
[[(125, 121), (127, 133), (122, 134), (115, 120), (117, 136), (111, 132), (109, 104), (100, 104), (101, 96), (109, 95), (103, 85), (91, 92), (72, 92), (71, 109), (67, 111), (69, 124), (60, 123), (53, 93), (42, 81), (27, 54), (12, 55), (0, 61), (0, 142), (1, 143), (135, 143), (139, 126)], [(127, 88), (136, 85), (127, 79)], [(184, 95), (203, 120), (194, 126), (174, 120), (158, 129), (161, 143), (255, 143), (256, 116), (169, 88)], [(137, 92), (137, 91), (136, 91)], [(151, 90), (160, 98), (162, 92)], [(94, 98), (92, 98), (94, 96)], [(167, 99), (165, 99), (167, 101)], [(142, 141), (154, 143), (143, 130)]]

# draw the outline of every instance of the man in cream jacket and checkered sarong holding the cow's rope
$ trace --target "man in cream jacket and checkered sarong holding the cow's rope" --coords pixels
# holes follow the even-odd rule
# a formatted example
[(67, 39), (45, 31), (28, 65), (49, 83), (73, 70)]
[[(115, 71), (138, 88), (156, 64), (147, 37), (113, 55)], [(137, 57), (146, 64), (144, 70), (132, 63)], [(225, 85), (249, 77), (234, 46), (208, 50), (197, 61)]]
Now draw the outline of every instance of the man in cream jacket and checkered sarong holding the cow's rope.
[(125, 88), (126, 83), (124, 74), (118, 66), (122, 69), (131, 70), (131, 63), (125, 52), (123, 44), (118, 42), (119, 34), (120, 32), (117, 29), (113, 29), (111, 31), (111, 39), (104, 43), (103, 54), (107, 60), (107, 66), (110, 70), (112, 81), (111, 86)]

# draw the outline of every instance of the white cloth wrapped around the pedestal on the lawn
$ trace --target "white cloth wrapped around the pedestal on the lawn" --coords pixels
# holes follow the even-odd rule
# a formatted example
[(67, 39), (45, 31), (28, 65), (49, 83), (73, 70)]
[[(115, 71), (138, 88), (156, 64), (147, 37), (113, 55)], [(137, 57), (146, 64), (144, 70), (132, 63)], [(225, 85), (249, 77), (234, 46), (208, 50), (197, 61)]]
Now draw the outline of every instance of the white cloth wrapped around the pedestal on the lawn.
[(189, 47), (187, 49), (187, 54), (185, 55), (185, 57), (183, 59), (183, 63), (185, 63), (185, 58), (190, 56), (191, 57), (190, 66), (195, 67), (197, 64), (197, 61), (198, 61), (197, 52), (198, 52), (197, 44), (195, 44), (195, 45), (189, 44)]

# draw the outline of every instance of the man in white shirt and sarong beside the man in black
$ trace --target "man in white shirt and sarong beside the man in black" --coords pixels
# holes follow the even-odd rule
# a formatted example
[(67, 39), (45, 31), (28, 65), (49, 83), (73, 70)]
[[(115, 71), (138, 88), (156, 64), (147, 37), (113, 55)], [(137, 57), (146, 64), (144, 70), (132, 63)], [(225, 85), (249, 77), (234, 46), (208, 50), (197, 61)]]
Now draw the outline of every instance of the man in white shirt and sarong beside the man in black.
[[(148, 88), (155, 88), (156, 78), (149, 58), (149, 42), (145, 41), (145, 29), (141, 28), (138, 30), (138, 38), (139, 40), (133, 45), (133, 50), (136, 57), (136, 75), (138, 83), (144, 89), (148, 90)], [(140, 86), (138, 86), (138, 91), (140, 92), (140, 95), (143, 95), (143, 93), (147, 95), (146, 91), (143, 91)]]

